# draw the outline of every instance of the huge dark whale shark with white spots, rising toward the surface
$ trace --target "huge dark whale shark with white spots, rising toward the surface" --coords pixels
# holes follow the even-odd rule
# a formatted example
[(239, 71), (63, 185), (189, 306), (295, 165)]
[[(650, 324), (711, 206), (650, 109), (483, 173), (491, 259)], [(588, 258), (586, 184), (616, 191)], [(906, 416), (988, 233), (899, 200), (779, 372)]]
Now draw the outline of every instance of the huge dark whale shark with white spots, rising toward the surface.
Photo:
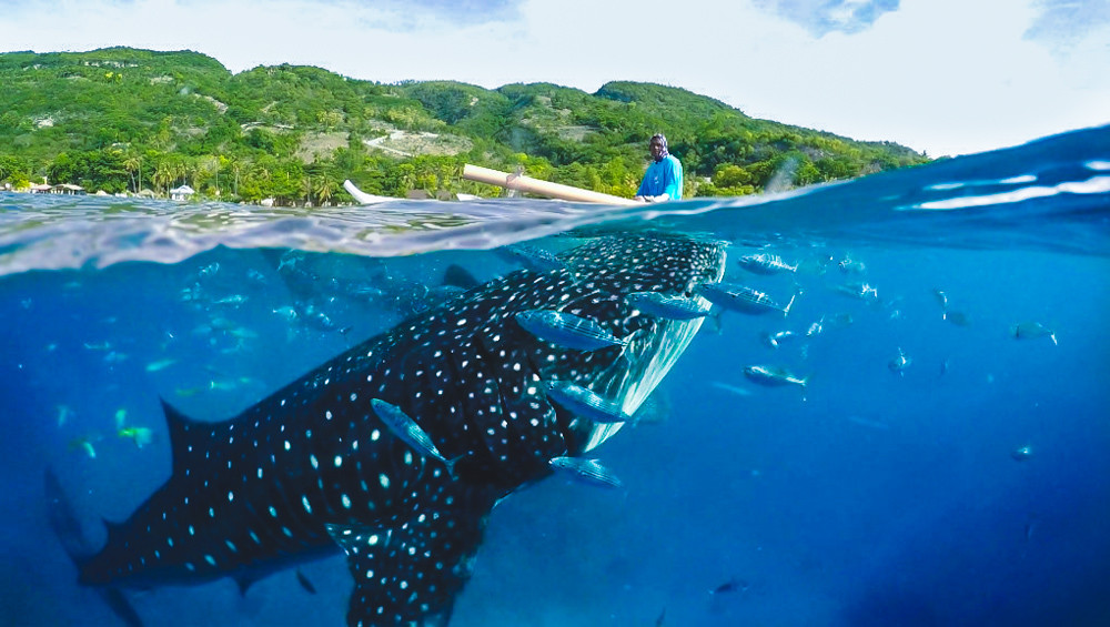
[[(102, 548), (68, 548), (79, 582), (114, 591), (232, 577), (245, 593), (343, 553), (349, 625), (447, 625), (494, 506), (549, 476), (549, 461), (582, 456), (623, 426), (571, 413), (548, 384), (635, 413), (702, 318), (653, 316), (627, 296), (699, 299), (697, 286), (724, 274), (725, 244), (605, 235), (558, 260), (408, 317), (231, 418), (185, 416), (163, 401), (172, 474), (127, 520), (107, 523)], [(620, 342), (561, 345), (517, 322), (529, 311), (588, 318)], [(398, 437), (375, 404), (411, 419), (437, 454)]]

